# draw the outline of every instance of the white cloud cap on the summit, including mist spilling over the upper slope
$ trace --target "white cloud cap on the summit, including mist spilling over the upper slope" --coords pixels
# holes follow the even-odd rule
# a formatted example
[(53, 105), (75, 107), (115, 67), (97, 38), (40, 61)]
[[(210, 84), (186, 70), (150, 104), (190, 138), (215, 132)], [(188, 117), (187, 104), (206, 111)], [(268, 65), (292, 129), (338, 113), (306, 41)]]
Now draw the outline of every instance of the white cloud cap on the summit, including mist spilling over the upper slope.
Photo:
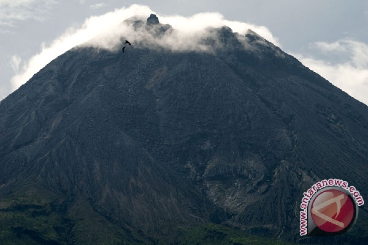
[[(277, 38), (266, 27), (243, 22), (227, 21), (219, 13), (200, 13), (191, 17), (158, 15), (162, 24), (170, 24), (175, 29), (173, 35), (168, 35), (164, 40), (149, 39), (144, 29), (137, 32), (130, 26), (123, 24), (123, 21), (130, 17), (137, 16), (146, 19), (152, 13), (155, 12), (147, 6), (132, 5), (129, 8), (116, 9), (104, 15), (92, 16), (86, 19), (81, 28), (70, 28), (66, 30), (63, 35), (57, 37), (50, 45), (43, 45), (41, 47), (42, 51), (39, 54), (34, 55), (28, 62), (24, 62), (20, 72), (11, 79), (13, 88), (17, 89), (57, 56), (87, 41), (88, 43), (84, 45), (116, 49), (120, 47), (120, 37), (129, 36), (129, 40), (132, 42), (145, 40), (147, 42), (154, 42), (156, 45), (167, 46), (173, 50), (182, 50), (183, 48), (201, 49), (202, 47), (198, 46), (193, 40), (199, 39), (206, 33), (208, 34), (205, 28), (227, 25), (233, 31), (241, 34), (245, 34), (247, 29), (251, 28), (271, 42), (280, 45)], [(191, 42), (188, 42), (188, 40), (191, 40)]]

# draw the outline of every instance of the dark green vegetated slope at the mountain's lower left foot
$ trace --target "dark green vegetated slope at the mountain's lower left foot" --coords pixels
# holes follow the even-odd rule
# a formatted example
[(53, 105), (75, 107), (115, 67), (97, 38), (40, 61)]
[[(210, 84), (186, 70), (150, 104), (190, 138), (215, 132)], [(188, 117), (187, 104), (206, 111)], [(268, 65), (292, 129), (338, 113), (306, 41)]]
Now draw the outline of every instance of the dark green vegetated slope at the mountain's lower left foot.
[(0, 201), (1, 244), (152, 244), (113, 224), (86, 201), (66, 206), (49, 192), (25, 191)]

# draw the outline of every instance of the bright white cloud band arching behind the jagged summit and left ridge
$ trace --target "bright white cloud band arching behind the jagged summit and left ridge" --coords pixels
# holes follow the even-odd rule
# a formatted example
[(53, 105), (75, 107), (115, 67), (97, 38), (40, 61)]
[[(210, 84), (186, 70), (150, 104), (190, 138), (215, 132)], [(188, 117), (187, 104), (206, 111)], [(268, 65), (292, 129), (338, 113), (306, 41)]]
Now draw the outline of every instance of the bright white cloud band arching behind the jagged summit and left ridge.
[[(115, 40), (119, 36), (129, 34), (126, 28), (119, 27), (121, 23), (128, 18), (137, 16), (146, 20), (151, 14), (156, 14), (148, 6), (141, 6), (134, 4), (128, 8), (116, 9), (104, 15), (93, 16), (85, 20), (80, 28), (70, 28), (66, 30), (63, 35), (57, 37), (49, 45), (42, 46), (40, 53), (34, 55), (30, 60), (23, 61), (19, 66), (17, 73), (11, 79), (13, 88), (17, 89), (19, 86), (28, 81), (36, 72), (43, 68), (46, 64), (54, 58), (65, 53), (71, 48), (95, 39), (97, 35), (106, 35), (106, 38), (95, 39), (96, 47), (112, 48), (116, 47), (118, 43)], [(157, 15), (163, 24), (170, 24), (173, 29), (177, 30), (183, 35), (185, 33), (198, 32), (212, 27), (220, 27), (223, 25), (229, 26), (235, 32), (245, 34), (248, 29), (252, 29), (265, 37), (270, 42), (280, 46), (277, 38), (265, 26), (257, 26), (244, 22), (229, 21), (224, 19), (223, 15), (219, 13), (200, 13), (190, 17), (182, 17), (177, 15)], [(114, 34), (114, 33), (117, 33)], [(111, 38), (107, 38), (111, 37)], [(97, 42), (99, 40), (99, 42)], [(175, 40), (174, 40), (175, 42)]]

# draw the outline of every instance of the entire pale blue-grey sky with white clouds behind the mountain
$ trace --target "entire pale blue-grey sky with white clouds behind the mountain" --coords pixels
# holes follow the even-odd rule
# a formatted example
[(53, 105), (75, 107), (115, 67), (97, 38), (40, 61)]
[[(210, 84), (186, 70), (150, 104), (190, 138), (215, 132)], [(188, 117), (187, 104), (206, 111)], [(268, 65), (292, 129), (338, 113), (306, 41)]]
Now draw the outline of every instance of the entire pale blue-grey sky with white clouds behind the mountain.
[(125, 18), (150, 13), (179, 30), (176, 42), (207, 26), (241, 34), (250, 28), (368, 104), (364, 0), (0, 0), (0, 100), (71, 47), (122, 32), (117, 24)]

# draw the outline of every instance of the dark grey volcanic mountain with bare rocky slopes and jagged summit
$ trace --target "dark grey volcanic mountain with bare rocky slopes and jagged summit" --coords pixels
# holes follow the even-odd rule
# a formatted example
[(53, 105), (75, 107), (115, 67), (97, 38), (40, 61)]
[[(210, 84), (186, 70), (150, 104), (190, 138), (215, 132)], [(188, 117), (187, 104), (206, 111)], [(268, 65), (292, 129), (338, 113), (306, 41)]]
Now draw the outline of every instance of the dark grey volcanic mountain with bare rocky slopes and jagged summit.
[[(312, 184), (368, 197), (368, 107), (252, 31), (210, 32), (202, 51), (75, 47), (1, 101), (1, 241), (307, 243)], [(367, 217), (313, 241), (362, 242)]]

